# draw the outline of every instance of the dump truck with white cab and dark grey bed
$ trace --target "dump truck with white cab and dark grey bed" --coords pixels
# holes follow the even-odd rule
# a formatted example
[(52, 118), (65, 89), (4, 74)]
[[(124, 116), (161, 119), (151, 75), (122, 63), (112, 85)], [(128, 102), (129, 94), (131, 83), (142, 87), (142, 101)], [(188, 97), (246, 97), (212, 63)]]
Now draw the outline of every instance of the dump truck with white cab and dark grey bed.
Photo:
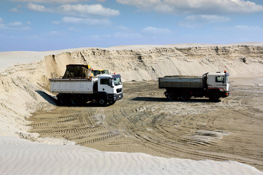
[(205, 73), (202, 76), (164, 76), (159, 78), (159, 88), (165, 88), (168, 100), (187, 100), (190, 97), (209, 97), (218, 101), (220, 97), (229, 96), (229, 73)]

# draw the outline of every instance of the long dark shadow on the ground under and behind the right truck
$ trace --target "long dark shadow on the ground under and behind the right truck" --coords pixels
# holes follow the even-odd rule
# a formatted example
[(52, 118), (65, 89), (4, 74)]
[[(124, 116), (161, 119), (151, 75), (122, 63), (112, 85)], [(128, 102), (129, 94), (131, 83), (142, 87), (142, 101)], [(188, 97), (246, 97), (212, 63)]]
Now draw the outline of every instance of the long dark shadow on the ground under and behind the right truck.
[[(178, 101), (178, 102), (211, 102), (209, 101), (208, 98), (190, 98), (188, 100), (182, 101), (182, 100), (167, 100), (166, 98), (162, 98), (162, 97), (150, 97), (150, 96), (137, 96), (134, 98), (129, 99), (131, 101), (158, 101), (158, 102), (174, 102), (174, 101)], [(221, 100), (219, 99), (216, 102), (220, 102)]]

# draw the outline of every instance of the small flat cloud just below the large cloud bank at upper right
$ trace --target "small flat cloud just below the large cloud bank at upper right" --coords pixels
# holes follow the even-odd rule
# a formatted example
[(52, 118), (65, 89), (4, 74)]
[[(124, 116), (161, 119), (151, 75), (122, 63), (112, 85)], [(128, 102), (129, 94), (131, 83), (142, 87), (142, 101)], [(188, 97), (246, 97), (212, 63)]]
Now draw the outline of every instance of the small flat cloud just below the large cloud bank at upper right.
[(230, 21), (229, 17), (219, 15), (190, 15), (186, 16), (189, 21), (207, 21), (207, 22), (227, 22)]

